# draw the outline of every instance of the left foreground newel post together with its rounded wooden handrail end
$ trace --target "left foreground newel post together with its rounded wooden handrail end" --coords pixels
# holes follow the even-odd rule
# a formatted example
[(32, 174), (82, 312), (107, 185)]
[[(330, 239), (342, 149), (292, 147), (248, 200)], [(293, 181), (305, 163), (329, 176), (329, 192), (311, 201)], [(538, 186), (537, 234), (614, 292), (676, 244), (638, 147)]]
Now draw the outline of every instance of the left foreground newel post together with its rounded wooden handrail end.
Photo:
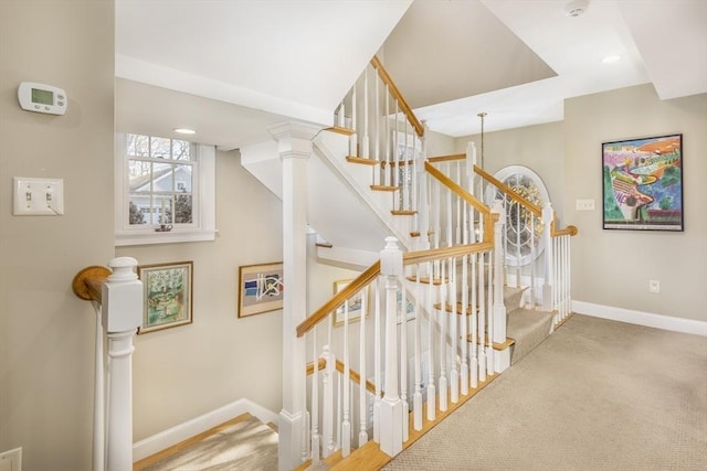
[(136, 266), (134, 258), (114, 258), (110, 269), (84, 268), (72, 282), (96, 312), (93, 471), (133, 470), (133, 336), (143, 319)]

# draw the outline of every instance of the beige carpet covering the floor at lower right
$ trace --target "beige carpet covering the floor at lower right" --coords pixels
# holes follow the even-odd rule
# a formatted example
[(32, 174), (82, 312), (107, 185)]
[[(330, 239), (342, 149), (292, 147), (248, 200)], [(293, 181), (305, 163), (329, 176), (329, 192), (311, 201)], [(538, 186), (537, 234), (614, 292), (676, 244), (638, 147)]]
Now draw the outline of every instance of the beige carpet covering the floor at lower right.
[(386, 470), (707, 470), (707, 339), (573, 315)]

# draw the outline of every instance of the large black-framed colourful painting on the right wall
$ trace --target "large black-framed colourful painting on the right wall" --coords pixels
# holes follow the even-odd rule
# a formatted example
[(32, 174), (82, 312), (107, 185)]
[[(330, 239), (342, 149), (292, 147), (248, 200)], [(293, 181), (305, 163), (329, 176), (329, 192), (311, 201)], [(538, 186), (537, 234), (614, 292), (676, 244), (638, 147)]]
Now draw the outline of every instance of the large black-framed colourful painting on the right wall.
[(683, 135), (601, 146), (603, 228), (684, 231)]

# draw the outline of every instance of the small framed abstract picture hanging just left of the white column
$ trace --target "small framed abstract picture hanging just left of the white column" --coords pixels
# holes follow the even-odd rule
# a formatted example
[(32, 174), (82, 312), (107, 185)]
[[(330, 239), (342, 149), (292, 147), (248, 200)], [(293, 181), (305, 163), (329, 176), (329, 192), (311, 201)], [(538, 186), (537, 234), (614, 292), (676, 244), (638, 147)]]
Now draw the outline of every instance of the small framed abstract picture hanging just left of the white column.
[(283, 309), (283, 263), (245, 265), (239, 268), (239, 318)]

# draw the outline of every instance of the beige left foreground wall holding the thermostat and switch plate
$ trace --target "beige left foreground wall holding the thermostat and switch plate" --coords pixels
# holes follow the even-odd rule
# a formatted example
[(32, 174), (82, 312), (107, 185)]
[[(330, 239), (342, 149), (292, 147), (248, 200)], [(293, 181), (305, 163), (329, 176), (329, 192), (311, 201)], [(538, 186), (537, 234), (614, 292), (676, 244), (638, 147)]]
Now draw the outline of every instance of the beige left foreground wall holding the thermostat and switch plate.
[[(0, 1), (0, 451), (91, 469), (95, 314), (74, 275), (113, 247), (113, 1)], [(20, 82), (66, 90), (57, 117)], [(12, 176), (64, 179), (64, 216), (13, 216)]]

